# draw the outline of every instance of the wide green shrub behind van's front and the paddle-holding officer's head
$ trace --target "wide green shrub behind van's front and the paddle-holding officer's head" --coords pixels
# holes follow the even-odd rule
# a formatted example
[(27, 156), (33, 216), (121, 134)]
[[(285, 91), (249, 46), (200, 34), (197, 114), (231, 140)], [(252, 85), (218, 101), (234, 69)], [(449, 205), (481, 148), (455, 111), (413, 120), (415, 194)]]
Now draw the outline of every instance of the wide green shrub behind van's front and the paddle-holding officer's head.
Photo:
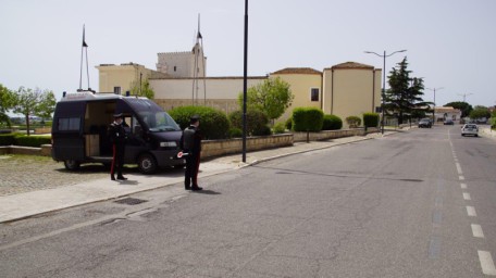
[(228, 135), (230, 121), (224, 112), (207, 106), (179, 106), (169, 111), (172, 118), (185, 129), (193, 115), (200, 116), (203, 139), (223, 139)]

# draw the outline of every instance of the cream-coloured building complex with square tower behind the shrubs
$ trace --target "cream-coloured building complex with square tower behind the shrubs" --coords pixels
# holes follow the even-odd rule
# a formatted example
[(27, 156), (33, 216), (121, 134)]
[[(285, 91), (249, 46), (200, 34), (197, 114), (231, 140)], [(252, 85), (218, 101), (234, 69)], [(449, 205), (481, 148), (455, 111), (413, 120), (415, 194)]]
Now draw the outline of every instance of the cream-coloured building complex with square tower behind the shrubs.
[[(154, 101), (165, 110), (207, 105), (230, 113), (239, 109), (243, 77), (207, 77), (206, 59), (198, 43), (190, 52), (158, 55), (157, 71), (134, 63), (97, 66), (100, 73), (99, 90), (124, 94), (141, 77), (148, 78), (156, 92)], [(325, 114), (339, 116), (347, 127), (346, 117), (361, 117), (363, 113), (376, 112), (381, 106), (381, 76), (380, 68), (346, 62), (324, 68), (323, 72), (310, 67), (287, 67), (268, 76), (251, 76), (248, 77), (248, 87), (261, 84), (269, 77), (281, 77), (290, 85), (295, 99), (278, 122), (288, 118), (294, 108), (314, 106), (322, 109)]]

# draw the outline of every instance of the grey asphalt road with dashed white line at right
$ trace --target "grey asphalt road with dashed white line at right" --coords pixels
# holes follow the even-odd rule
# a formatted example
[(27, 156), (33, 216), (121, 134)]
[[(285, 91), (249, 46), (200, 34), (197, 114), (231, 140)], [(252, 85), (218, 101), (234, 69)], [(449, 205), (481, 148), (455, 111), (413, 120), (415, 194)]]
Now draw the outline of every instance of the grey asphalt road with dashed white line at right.
[(0, 276), (492, 277), (495, 165), (459, 126), (290, 155), (2, 224)]

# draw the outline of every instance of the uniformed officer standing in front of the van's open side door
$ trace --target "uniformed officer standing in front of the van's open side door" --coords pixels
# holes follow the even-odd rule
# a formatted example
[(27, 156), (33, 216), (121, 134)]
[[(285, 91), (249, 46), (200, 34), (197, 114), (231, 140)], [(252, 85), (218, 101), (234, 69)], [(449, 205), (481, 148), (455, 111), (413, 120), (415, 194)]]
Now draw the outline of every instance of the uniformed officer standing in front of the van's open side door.
[(109, 138), (112, 142), (112, 166), (110, 168), (110, 179), (115, 180), (115, 172), (117, 172), (117, 179), (126, 180), (122, 175), (124, 165), (124, 151), (126, 147), (127, 135), (124, 129), (123, 117), (121, 114), (114, 115), (114, 122), (109, 126)]

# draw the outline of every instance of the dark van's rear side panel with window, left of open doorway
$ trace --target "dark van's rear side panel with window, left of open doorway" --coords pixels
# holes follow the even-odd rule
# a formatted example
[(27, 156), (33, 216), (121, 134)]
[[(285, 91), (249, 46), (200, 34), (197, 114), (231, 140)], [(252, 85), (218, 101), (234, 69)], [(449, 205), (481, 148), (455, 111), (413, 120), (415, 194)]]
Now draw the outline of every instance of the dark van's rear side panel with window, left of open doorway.
[(86, 102), (59, 102), (52, 124), (52, 156), (57, 161), (83, 161), (85, 138), (83, 136)]

